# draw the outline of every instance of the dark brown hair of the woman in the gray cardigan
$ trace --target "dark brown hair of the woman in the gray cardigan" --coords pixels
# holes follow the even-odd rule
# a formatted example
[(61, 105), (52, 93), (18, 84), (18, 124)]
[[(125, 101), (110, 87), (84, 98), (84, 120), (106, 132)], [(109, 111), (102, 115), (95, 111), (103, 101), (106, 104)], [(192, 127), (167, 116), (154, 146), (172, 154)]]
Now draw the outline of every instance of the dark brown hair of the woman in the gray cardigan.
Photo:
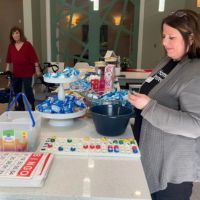
[[(186, 48), (189, 46), (190, 58), (200, 58), (200, 17), (196, 12), (189, 9), (177, 10), (163, 19), (161, 32), (164, 24), (180, 32)], [(193, 40), (192, 45), (190, 45), (190, 38)]]

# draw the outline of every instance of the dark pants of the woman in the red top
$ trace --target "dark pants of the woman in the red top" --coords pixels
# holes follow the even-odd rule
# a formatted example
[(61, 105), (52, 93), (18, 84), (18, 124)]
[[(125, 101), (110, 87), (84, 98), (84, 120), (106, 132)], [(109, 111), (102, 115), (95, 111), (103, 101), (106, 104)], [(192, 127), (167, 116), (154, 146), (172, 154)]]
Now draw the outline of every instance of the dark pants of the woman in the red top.
[[(22, 88), (24, 88), (24, 93), (32, 107), (32, 110), (35, 109), (35, 98), (33, 94), (33, 88), (32, 88), (32, 77), (29, 78), (14, 78), (13, 79), (13, 90), (15, 93), (15, 96), (19, 93), (22, 92)], [(25, 110), (25, 106), (23, 103), (22, 97), (19, 97), (18, 99), (18, 107), (16, 110)]]

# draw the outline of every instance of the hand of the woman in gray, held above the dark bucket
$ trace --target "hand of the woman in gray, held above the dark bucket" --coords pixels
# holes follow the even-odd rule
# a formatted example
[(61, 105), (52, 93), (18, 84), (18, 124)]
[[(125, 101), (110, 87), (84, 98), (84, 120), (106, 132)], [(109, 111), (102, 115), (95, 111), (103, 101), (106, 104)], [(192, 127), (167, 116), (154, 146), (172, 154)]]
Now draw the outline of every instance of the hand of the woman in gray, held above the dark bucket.
[(128, 101), (137, 109), (142, 110), (149, 102), (151, 98), (149, 98), (145, 94), (140, 94), (137, 92), (133, 92), (132, 94), (129, 92)]

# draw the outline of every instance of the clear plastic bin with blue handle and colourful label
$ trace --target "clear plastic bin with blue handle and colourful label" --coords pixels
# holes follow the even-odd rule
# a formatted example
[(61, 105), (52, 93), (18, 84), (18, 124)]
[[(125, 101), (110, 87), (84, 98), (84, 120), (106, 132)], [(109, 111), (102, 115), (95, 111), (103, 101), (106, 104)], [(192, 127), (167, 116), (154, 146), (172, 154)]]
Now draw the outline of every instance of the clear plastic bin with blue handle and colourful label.
[[(10, 111), (22, 95), (28, 111)], [(41, 116), (31, 112), (26, 96), (19, 93), (0, 115), (0, 151), (35, 151), (40, 137)]]

